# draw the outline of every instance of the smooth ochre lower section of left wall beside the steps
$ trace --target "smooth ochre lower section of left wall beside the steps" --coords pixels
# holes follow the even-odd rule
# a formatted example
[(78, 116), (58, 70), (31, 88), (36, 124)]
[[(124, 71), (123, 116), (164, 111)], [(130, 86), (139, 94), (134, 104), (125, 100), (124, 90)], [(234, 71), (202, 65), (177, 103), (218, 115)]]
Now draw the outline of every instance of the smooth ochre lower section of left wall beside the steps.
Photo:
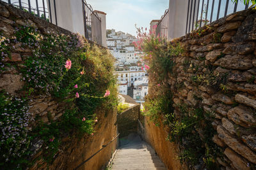
[[(54, 161), (51, 165), (44, 162), (41, 159), (42, 152), (36, 153), (33, 157), (35, 164), (29, 169), (74, 169), (81, 162), (88, 159), (93, 153), (96, 153), (102, 148), (102, 145), (106, 145), (109, 141), (116, 137), (116, 110), (109, 111), (97, 111), (98, 124), (95, 127), (95, 133), (93, 136), (83, 136), (82, 138), (63, 138), (60, 151), (58, 155), (54, 157)], [(108, 164), (108, 160), (111, 158), (112, 153), (117, 149), (117, 140), (115, 139), (106, 148), (97, 153), (92, 159), (79, 167), (79, 169), (102, 169)]]

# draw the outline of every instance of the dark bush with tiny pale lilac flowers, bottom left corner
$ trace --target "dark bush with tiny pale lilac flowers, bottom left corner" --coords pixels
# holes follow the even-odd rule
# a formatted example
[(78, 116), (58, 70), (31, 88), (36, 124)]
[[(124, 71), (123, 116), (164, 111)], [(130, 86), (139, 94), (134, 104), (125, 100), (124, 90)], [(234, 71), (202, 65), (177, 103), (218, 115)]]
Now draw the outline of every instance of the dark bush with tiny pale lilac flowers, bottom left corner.
[(0, 91), (0, 167), (20, 169), (27, 161), (32, 120), (26, 99)]

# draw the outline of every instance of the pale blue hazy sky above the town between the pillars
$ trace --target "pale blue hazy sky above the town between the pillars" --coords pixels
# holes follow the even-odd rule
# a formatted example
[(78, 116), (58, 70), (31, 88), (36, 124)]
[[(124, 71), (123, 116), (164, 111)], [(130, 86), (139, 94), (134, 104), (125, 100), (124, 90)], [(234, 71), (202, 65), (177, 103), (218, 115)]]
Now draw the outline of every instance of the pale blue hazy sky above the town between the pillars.
[(159, 20), (169, 7), (169, 0), (86, 0), (93, 10), (104, 11), (107, 29), (115, 29), (136, 36), (136, 28), (149, 27), (151, 20)]

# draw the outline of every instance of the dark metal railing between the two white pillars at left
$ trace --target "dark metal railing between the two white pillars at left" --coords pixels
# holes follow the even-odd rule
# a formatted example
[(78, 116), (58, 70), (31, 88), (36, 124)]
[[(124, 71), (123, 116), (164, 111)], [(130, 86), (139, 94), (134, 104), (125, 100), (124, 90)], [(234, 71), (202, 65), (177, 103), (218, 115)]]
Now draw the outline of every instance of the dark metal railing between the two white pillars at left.
[(101, 20), (90, 4), (83, 1), (84, 36), (102, 45)]

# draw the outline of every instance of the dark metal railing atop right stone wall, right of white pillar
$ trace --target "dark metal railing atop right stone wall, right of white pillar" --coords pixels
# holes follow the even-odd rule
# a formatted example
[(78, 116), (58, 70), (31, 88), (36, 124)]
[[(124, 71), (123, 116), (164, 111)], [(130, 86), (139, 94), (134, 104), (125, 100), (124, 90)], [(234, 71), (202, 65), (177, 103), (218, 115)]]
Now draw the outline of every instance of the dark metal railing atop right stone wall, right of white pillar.
[(232, 0), (188, 0), (186, 33), (225, 17), (236, 11), (246, 10), (251, 4)]

